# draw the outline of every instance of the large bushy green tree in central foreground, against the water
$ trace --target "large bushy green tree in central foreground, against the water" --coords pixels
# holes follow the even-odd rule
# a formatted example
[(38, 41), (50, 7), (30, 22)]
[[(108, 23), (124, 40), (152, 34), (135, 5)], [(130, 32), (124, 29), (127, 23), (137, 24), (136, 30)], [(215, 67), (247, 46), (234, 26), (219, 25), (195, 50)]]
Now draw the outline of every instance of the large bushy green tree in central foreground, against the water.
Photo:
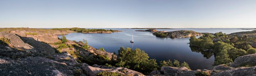
[(121, 47), (118, 50), (117, 62), (118, 67), (129, 68), (144, 74), (158, 68), (155, 59), (149, 59), (148, 54), (138, 48), (132, 50), (131, 48), (124, 49), (124, 47)]

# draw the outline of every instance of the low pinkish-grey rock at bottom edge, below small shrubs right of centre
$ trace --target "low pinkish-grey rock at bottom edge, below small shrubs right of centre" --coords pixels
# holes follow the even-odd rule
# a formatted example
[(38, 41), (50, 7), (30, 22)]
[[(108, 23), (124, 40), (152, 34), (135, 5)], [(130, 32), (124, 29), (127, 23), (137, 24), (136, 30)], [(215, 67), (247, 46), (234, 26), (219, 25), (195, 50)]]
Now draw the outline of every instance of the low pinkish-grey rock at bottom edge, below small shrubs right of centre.
[(195, 76), (197, 73), (185, 67), (161, 67), (161, 71), (167, 76)]

